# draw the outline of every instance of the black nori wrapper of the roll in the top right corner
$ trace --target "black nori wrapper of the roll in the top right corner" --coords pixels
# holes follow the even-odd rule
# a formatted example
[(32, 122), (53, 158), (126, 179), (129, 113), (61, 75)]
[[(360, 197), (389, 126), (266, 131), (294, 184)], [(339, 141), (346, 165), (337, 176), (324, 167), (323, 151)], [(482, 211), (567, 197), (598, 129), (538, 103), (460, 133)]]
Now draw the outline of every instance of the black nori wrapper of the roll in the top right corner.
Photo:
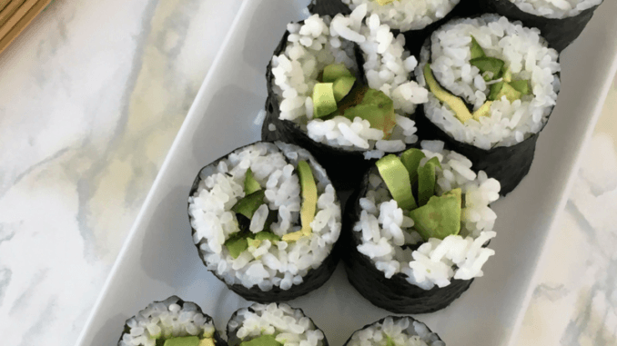
[(478, 0), (478, 3), (480, 10), (484, 13), (503, 15), (511, 21), (518, 20), (525, 26), (540, 29), (541, 35), (549, 42), (549, 46), (560, 53), (581, 35), (585, 25), (592, 19), (593, 12), (599, 6), (588, 8), (578, 15), (547, 18), (524, 12), (509, 0)]

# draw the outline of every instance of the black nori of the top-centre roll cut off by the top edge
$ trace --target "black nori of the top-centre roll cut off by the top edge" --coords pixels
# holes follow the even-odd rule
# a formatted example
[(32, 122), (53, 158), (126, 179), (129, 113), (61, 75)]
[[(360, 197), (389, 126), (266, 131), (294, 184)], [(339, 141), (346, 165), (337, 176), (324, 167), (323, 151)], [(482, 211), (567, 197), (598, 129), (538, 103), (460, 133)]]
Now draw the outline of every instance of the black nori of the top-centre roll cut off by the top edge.
[[(309, 5), (309, 11), (312, 14), (329, 16), (337, 14), (348, 15), (351, 13), (349, 6), (345, 5), (341, 0), (312, 0)], [(448, 15), (445, 15), (443, 18), (436, 20), (422, 29), (403, 31), (402, 34), (405, 36), (405, 49), (418, 58), (424, 40), (426, 40), (426, 38), (438, 27), (449, 22), (450, 19), (456, 16), (475, 15), (478, 12), (479, 8), (475, 0), (460, 0), (460, 3), (455, 5)], [(401, 33), (400, 30), (394, 28), (392, 28), (391, 31), (394, 37)]]

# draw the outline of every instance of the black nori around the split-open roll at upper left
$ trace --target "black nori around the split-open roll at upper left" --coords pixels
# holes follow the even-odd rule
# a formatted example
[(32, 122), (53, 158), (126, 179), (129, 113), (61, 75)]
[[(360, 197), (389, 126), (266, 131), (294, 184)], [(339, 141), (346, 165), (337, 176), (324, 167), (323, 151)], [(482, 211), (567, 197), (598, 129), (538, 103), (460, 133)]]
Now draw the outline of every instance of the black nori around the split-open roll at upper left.
[[(288, 35), (289, 32), (286, 31), (272, 55), (281, 54), (285, 50)], [(359, 63), (362, 61), (358, 49), (356, 49), (356, 58), (359, 60)], [(361, 65), (363, 64), (359, 64), (359, 66)], [(360, 74), (359, 78), (366, 83), (366, 76), (362, 69), (360, 69)], [(410, 75), (413, 76), (413, 72), (411, 72)], [(261, 127), (261, 140), (267, 142), (281, 141), (291, 143), (308, 150), (315, 156), (319, 164), (326, 169), (337, 191), (349, 190), (358, 186), (362, 179), (362, 174), (366, 172), (373, 163), (377, 162), (377, 159), (366, 160), (364, 158), (364, 153), (366, 153), (366, 151), (348, 151), (325, 143), (315, 142), (306, 132), (300, 129), (298, 124), (288, 120), (281, 120), (279, 118), (280, 109), (278, 97), (277, 94), (274, 93), (273, 88), (273, 79), (272, 61), (270, 60), (266, 71), (268, 99), (265, 105), (266, 118)], [(420, 104), (416, 106), (416, 112), (418, 112), (419, 109)], [(414, 117), (413, 114), (407, 115), (410, 119)], [(274, 131), (269, 130), (268, 127), (270, 124), (276, 127)], [(402, 153), (410, 148), (418, 147), (419, 142), (411, 144), (405, 143), (405, 149), (397, 153)], [(341, 169), (341, 167), (343, 167), (343, 169)]]

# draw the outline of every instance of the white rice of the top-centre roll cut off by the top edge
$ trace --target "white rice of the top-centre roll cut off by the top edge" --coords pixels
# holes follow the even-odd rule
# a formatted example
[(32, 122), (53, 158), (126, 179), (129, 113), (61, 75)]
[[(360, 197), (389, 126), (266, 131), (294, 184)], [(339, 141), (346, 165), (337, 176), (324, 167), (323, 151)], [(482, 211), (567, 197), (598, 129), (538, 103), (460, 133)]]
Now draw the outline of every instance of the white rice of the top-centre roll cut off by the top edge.
[(460, 0), (394, 0), (379, 5), (375, 0), (342, 0), (351, 9), (368, 5), (369, 14), (379, 15), (382, 23), (400, 31), (420, 30), (448, 15)]

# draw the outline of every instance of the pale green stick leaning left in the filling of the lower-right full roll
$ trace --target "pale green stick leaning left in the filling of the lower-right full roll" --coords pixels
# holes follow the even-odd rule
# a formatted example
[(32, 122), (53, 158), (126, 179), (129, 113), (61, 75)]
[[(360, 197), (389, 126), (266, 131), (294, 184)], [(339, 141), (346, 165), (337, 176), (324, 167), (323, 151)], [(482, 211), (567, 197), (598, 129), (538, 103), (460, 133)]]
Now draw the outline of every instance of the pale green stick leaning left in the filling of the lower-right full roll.
[(411, 192), (410, 173), (399, 157), (389, 154), (380, 158), (375, 164), (381, 178), (388, 186), (389, 193), (399, 204), (400, 209), (411, 210), (416, 208), (416, 200), (414, 200)]

